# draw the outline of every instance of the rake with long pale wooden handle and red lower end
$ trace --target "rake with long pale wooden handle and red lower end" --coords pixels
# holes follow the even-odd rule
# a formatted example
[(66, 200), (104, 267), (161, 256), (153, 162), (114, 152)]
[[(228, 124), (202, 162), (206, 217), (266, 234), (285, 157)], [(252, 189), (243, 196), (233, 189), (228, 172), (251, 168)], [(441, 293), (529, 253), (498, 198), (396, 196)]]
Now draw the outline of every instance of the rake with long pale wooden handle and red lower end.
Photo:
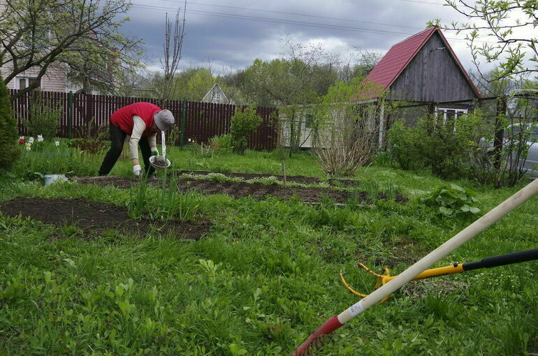
[(303, 343), (300, 344), (300, 346), (293, 352), (293, 356), (312, 355), (317, 348), (320, 336), (332, 334), (336, 329), (349, 322), (349, 320), (355, 318), (358, 316), (358, 314), (363, 313), (363, 311), (370, 308), (370, 306), (377, 304), (388, 295), (391, 295), (392, 292), (414, 279), (421, 272), (428, 269), (428, 267), (446, 257), (452, 251), (458, 249), (458, 247), (465, 244), (465, 242), (470, 241), (470, 239), (477, 236), (480, 232), (486, 230), (486, 228), (490, 227), (490, 225), (493, 225), (493, 223), (498, 221), (500, 218), (507, 215), (509, 212), (516, 209), (516, 207), (522, 205), (524, 202), (537, 194), (538, 179), (535, 179), (510, 198), (504, 200), (504, 202), (500, 203), (500, 205), (497, 205), (497, 207), (491, 209), (490, 212), (484, 216), (481, 216), (481, 218), (479, 218), (477, 221), (474, 221), (474, 223), (467, 226), (467, 228), (461, 230), (457, 235), (453, 236), (444, 244), (437, 247), (437, 249), (428, 253), (428, 255), (421, 258), (421, 260), (414, 263), (414, 265), (407, 268), (404, 272), (398, 276), (395, 276), (394, 279), (385, 285), (381, 285), (379, 289), (374, 290), (372, 293), (370, 293), (370, 295), (367, 295), (363, 299), (359, 300), (348, 309), (342, 311), (342, 313), (338, 314), (337, 316), (333, 316), (324, 322), (323, 325), (318, 327)]

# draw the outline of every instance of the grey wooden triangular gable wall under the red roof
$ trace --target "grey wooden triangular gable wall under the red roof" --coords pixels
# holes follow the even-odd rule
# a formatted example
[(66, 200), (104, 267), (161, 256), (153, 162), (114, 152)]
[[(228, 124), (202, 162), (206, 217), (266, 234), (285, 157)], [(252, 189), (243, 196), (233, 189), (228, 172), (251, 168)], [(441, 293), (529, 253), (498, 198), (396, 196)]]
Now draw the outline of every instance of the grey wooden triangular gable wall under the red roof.
[[(444, 50), (436, 50), (445, 47)], [(442, 102), (476, 98), (467, 78), (443, 43), (433, 34), (390, 87), (388, 98)]]

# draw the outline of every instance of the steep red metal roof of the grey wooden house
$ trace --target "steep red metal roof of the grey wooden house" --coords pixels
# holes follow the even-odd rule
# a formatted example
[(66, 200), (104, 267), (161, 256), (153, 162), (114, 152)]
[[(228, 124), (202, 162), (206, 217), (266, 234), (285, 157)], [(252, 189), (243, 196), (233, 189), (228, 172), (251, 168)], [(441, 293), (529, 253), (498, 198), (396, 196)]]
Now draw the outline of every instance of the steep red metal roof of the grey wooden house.
[(383, 90), (388, 89), (388, 87), (390, 87), (396, 78), (398, 78), (398, 75), (402, 73), (407, 64), (409, 64), (413, 57), (415, 57), (415, 54), (421, 50), (422, 46), (435, 31), (439, 31), (439, 35), (446, 44), (446, 47), (451, 52), (452, 57), (456, 60), (460, 70), (467, 78), (467, 81), (470, 83), (474, 93), (480, 98), (481, 95), (479, 91), (476, 87), (474, 87), (469, 75), (467, 75), (467, 72), (458, 60), (458, 57), (456, 57), (456, 54), (437, 26), (425, 29), (418, 34), (414, 34), (413, 36), (393, 45), (391, 49), (388, 50), (388, 52), (384, 55), (381, 61), (379, 61), (374, 69), (372, 69), (372, 71), (366, 76), (365, 80), (379, 84)]

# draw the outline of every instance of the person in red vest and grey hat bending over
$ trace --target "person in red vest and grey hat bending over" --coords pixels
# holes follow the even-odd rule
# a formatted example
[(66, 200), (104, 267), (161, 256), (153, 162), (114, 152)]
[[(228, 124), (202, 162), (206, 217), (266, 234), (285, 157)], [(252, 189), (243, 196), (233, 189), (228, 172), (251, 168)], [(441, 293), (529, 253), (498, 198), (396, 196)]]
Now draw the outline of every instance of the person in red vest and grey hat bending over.
[(138, 145), (144, 159), (145, 174), (151, 177), (154, 168), (150, 164), (150, 156), (157, 156), (156, 136), (159, 131), (166, 131), (174, 124), (174, 116), (170, 110), (161, 110), (152, 103), (133, 103), (121, 107), (110, 115), (110, 149), (106, 153), (99, 175), (108, 175), (122, 154), (126, 135), (129, 139), (129, 156), (133, 165), (133, 174), (140, 176), (142, 168), (138, 161)]

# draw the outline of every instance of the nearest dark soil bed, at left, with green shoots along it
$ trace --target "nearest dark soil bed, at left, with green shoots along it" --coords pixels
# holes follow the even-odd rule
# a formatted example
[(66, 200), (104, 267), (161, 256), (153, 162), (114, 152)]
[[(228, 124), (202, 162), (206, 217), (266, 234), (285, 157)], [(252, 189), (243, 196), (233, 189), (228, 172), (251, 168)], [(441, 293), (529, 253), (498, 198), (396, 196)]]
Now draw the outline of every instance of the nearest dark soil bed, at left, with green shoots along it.
[(125, 207), (84, 198), (15, 198), (0, 203), (0, 212), (7, 216), (30, 218), (56, 226), (76, 225), (87, 232), (113, 229), (145, 236), (159, 230), (161, 235), (173, 233), (178, 239), (199, 239), (212, 225), (208, 221), (146, 221), (129, 218)]

